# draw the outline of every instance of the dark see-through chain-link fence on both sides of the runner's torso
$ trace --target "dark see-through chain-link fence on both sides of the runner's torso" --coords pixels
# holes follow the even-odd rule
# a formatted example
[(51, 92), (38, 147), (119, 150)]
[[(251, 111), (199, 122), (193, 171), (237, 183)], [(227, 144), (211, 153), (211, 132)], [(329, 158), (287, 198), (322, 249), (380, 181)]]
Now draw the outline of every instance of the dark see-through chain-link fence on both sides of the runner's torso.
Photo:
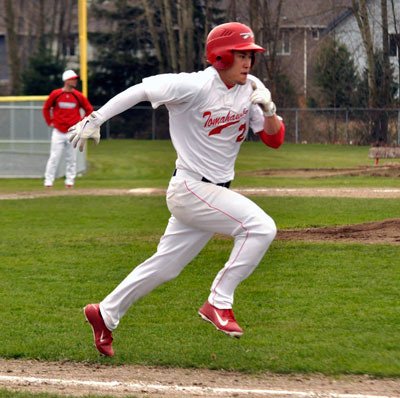
[[(280, 109), (286, 142), (369, 145), (387, 131), (385, 142), (400, 144), (400, 109)], [(386, 126), (386, 127), (385, 127)], [(136, 106), (102, 128), (105, 138), (168, 139), (165, 107)], [(249, 139), (253, 139), (250, 135)]]

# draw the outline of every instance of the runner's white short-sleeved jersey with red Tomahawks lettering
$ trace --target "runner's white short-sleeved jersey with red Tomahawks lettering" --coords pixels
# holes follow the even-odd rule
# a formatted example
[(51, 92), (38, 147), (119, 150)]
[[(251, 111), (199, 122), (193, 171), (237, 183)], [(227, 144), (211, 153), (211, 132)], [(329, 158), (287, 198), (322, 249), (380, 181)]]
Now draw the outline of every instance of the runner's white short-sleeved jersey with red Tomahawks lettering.
[(212, 182), (234, 178), (234, 164), (249, 127), (260, 132), (264, 116), (250, 102), (251, 82), (228, 89), (218, 72), (162, 74), (143, 79), (153, 108), (169, 111), (170, 135), (178, 158), (177, 169), (193, 171)]

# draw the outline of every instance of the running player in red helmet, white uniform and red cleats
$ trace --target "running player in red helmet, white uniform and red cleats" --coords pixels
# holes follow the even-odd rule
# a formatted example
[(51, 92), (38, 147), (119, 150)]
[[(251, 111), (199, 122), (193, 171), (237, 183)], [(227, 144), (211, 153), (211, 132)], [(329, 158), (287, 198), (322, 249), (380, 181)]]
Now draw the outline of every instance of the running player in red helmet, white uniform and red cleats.
[(129, 307), (176, 276), (215, 233), (231, 235), (234, 246), (198, 310), (202, 319), (229, 336), (242, 328), (232, 311), (234, 292), (257, 267), (276, 235), (270, 216), (248, 198), (229, 189), (234, 164), (249, 128), (278, 148), (285, 127), (275, 113), (269, 90), (250, 75), (255, 53), (251, 29), (237, 22), (215, 27), (207, 37), (211, 64), (200, 72), (162, 74), (116, 95), (70, 130), (73, 145), (100, 140), (100, 126), (142, 101), (169, 111), (175, 171), (167, 189), (171, 212), (156, 253), (138, 265), (100, 304), (84, 308), (97, 350), (113, 356), (112, 332)]

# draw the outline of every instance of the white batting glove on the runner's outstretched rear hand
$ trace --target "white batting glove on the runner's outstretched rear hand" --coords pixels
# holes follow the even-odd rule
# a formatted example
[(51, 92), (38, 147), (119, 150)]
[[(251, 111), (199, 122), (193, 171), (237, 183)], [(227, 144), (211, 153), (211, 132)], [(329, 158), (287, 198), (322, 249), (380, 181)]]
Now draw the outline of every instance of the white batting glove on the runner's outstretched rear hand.
[(78, 147), (81, 152), (85, 149), (88, 139), (94, 140), (96, 144), (100, 142), (101, 117), (98, 112), (92, 112), (68, 130), (68, 139), (73, 147)]

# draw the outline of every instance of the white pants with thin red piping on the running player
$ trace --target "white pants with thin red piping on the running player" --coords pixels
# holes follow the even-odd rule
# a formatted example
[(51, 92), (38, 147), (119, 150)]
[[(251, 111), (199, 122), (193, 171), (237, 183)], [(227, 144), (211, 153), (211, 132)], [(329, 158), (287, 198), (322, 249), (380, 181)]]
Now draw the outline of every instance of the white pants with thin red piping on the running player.
[(235, 288), (253, 272), (276, 235), (272, 218), (248, 198), (202, 182), (192, 172), (178, 172), (168, 187), (172, 215), (157, 252), (100, 303), (110, 330), (135, 301), (178, 276), (215, 233), (233, 236), (234, 246), (214, 279), (208, 300), (217, 308), (232, 308)]

